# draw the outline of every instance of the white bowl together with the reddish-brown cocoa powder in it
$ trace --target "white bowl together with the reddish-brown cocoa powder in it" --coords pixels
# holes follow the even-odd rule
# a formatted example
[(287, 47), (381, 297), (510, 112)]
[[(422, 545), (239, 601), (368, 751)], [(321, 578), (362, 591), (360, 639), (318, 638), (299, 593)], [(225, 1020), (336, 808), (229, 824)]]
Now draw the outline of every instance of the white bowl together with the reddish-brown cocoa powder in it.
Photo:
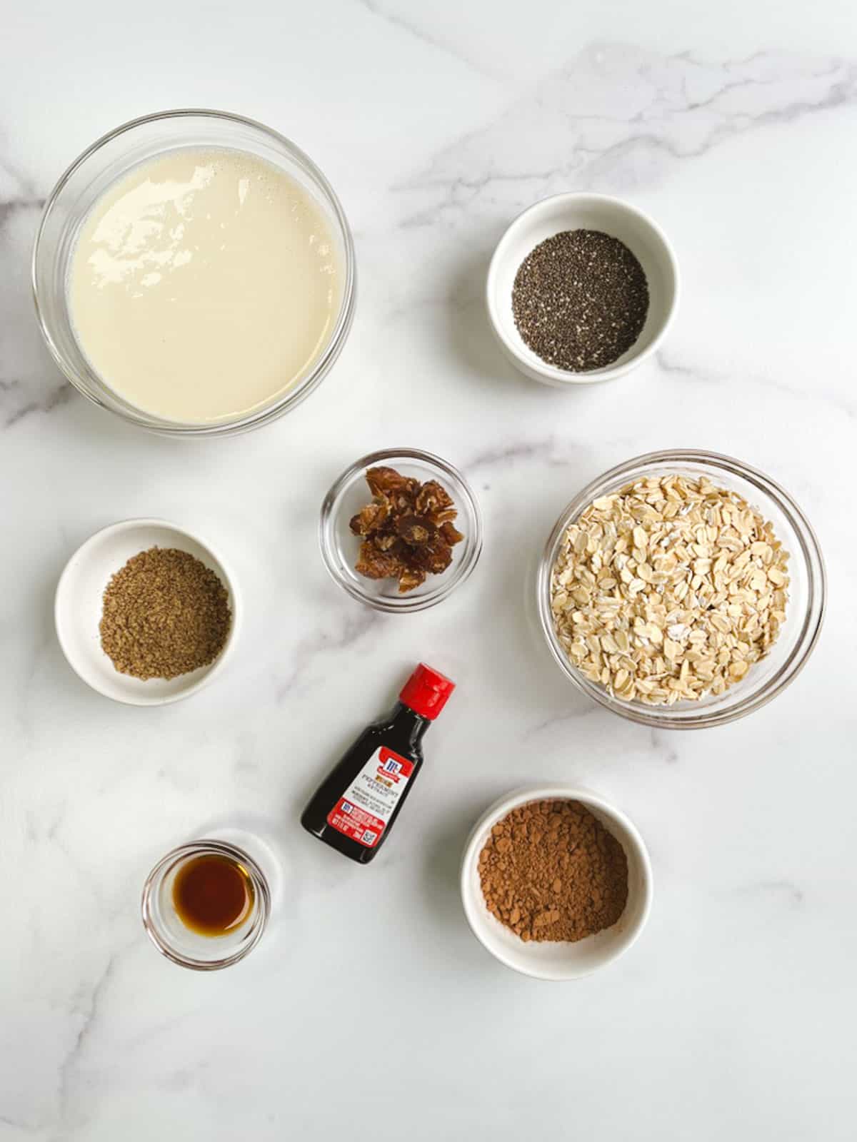
[(532, 786), (479, 819), (460, 888), (473, 934), (502, 964), (534, 979), (576, 980), (642, 932), (651, 862), (634, 825), (603, 797)]

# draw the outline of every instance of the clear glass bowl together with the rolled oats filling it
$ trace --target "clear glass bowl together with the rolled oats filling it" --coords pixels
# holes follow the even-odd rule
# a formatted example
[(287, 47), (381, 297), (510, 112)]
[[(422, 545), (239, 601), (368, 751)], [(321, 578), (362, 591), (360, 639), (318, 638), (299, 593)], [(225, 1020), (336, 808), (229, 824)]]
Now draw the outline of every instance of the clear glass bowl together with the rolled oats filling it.
[(658, 729), (721, 725), (804, 666), (826, 579), (809, 521), (768, 476), (716, 452), (611, 468), (556, 521), (538, 613), (568, 678)]

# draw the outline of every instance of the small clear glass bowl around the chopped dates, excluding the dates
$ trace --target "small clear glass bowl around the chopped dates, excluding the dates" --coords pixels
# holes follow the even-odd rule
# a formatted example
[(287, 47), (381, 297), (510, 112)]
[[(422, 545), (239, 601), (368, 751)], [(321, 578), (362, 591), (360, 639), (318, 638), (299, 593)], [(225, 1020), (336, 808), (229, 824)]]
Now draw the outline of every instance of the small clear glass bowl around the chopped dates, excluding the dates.
[[(424, 584), (406, 595), (399, 594), (394, 579), (365, 579), (354, 570), (360, 538), (351, 531), (349, 523), (371, 500), (363, 477), (367, 468), (377, 465), (395, 468), (403, 476), (413, 476), (423, 483), (436, 480), (452, 497), (458, 509), (454, 523), (464, 539), (452, 548), (451, 564), (442, 574), (430, 574)], [(319, 542), (331, 578), (353, 598), (391, 614), (424, 611), (442, 602), (476, 565), (482, 552), (482, 515), (467, 481), (451, 464), (419, 449), (390, 448), (355, 460), (336, 481), (321, 505)]]

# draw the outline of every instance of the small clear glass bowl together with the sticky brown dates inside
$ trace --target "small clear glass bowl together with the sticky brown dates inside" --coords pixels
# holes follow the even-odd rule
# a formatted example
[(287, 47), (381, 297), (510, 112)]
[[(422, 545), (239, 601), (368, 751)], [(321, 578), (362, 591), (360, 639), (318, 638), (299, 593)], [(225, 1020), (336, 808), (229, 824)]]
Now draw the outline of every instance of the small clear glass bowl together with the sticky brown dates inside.
[(352, 598), (392, 614), (442, 602), (482, 552), (482, 515), (451, 464), (391, 448), (350, 465), (325, 497), (321, 556)]

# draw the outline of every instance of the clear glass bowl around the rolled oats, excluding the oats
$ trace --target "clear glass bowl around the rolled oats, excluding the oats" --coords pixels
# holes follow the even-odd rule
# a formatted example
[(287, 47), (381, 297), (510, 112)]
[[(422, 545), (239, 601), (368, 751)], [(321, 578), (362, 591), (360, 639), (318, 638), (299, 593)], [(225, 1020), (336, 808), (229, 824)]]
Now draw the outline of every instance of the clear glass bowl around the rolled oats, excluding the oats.
[[(754, 662), (745, 677), (720, 695), (708, 695), (698, 702), (680, 701), (674, 706), (648, 706), (624, 701), (596, 685), (574, 666), (560, 645), (551, 612), (551, 572), (556, 562), (566, 529), (601, 496), (609, 496), (625, 484), (647, 476), (671, 473), (708, 480), (721, 488), (738, 492), (774, 526), (777, 538), (788, 552), (788, 603), (786, 620), (779, 637), (767, 657)], [(751, 714), (775, 698), (794, 679), (815, 646), (826, 602), (824, 561), (809, 521), (792, 497), (768, 476), (740, 460), (718, 452), (691, 449), (650, 452), (606, 472), (577, 494), (564, 509), (547, 540), (537, 574), (537, 605), (542, 630), (556, 664), (567, 677), (594, 701), (632, 722), (660, 730), (699, 730), (722, 725)]]

